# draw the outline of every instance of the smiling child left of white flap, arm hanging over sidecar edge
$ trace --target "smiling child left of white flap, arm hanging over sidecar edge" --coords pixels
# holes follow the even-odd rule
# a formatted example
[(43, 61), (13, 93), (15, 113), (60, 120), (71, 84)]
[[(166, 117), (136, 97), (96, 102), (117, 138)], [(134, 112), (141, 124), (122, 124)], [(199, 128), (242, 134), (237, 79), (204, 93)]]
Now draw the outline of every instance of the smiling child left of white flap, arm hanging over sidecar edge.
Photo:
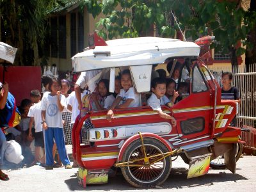
[(115, 99), (109, 111), (107, 113), (107, 119), (111, 122), (114, 117), (113, 109), (115, 108), (135, 108), (140, 106), (140, 95), (135, 93), (134, 87), (132, 86), (132, 79), (129, 69), (122, 72), (121, 75), (121, 85), (122, 89), (120, 94)]

